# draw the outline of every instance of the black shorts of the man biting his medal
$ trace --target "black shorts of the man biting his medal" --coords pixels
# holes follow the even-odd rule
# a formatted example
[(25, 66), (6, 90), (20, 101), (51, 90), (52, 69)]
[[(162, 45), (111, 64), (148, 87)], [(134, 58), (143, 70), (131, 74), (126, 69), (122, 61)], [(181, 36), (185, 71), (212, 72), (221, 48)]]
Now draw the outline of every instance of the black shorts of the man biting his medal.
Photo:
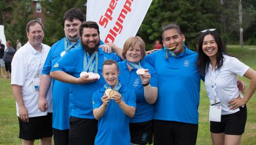
[(198, 124), (154, 120), (154, 145), (196, 144)]

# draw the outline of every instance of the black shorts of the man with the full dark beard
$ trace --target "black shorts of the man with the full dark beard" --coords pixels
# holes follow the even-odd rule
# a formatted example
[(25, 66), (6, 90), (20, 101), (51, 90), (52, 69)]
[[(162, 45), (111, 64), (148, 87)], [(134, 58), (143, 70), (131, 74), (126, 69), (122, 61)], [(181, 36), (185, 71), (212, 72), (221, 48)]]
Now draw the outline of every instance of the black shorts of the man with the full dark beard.
[(94, 145), (98, 121), (70, 116), (69, 145)]

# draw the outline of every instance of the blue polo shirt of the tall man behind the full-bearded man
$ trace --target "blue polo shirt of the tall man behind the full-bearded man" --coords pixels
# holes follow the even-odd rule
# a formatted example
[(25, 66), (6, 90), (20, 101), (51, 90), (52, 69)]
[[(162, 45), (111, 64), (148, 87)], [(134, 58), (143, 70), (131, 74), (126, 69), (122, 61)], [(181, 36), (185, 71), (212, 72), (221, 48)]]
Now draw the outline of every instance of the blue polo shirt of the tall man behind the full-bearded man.
[[(55, 42), (44, 63), (42, 74), (49, 75), (53, 65), (65, 50), (65, 37)], [(52, 127), (58, 130), (69, 129), (69, 83), (52, 79)]]

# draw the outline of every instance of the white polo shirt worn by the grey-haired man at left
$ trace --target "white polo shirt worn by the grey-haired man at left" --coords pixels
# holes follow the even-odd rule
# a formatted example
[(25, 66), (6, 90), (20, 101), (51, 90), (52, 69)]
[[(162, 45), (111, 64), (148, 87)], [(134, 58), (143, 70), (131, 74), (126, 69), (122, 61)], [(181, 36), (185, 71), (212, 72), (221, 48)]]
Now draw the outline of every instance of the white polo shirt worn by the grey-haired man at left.
[[(27, 42), (14, 55), (12, 59), (12, 79), (11, 84), (21, 86), (22, 97), (29, 117), (44, 116), (47, 112), (38, 109), (38, 91), (34, 90), (33, 79), (37, 70), (42, 75), (45, 59), (50, 47), (42, 44), (42, 53), (37, 52), (33, 46)], [(49, 88), (46, 99), (48, 101), (48, 112), (52, 112), (52, 87)], [(19, 106), (16, 102), (17, 116), (19, 116)]]

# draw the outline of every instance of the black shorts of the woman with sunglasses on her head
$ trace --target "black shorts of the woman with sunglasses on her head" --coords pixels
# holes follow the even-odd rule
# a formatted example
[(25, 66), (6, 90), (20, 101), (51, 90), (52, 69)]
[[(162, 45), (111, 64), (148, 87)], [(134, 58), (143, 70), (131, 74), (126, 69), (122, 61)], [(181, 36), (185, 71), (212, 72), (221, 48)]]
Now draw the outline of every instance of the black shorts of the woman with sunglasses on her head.
[(210, 122), (212, 133), (225, 133), (228, 135), (242, 135), (247, 118), (246, 105), (239, 107), (239, 111), (233, 114), (221, 115), (221, 122)]

